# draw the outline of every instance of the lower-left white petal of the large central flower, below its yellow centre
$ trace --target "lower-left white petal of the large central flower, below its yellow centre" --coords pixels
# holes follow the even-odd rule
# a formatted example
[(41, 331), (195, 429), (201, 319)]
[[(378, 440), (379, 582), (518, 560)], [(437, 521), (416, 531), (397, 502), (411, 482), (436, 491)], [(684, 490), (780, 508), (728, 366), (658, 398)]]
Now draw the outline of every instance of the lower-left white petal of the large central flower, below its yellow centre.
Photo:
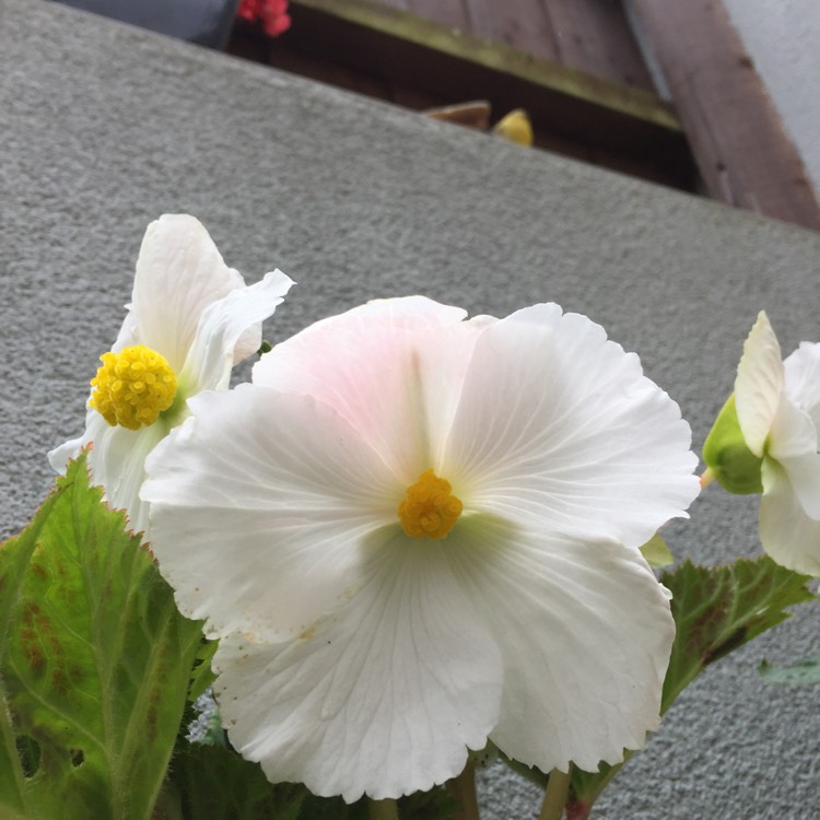
[(454, 777), (484, 746), (499, 649), (442, 544), (403, 534), (375, 544), (358, 594), (295, 641), (222, 640), (223, 725), (270, 781), (349, 803), (398, 797)]

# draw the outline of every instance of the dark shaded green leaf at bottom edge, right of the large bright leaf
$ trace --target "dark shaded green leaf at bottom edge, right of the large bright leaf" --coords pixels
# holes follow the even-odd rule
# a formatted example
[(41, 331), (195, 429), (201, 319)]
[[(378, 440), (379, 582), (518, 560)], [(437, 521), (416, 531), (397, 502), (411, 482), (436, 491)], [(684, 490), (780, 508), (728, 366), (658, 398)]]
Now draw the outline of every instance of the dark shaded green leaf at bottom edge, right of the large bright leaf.
[(272, 785), (258, 763), (226, 746), (187, 743), (174, 758), (171, 778), (184, 820), (297, 820), (309, 796), (297, 784)]

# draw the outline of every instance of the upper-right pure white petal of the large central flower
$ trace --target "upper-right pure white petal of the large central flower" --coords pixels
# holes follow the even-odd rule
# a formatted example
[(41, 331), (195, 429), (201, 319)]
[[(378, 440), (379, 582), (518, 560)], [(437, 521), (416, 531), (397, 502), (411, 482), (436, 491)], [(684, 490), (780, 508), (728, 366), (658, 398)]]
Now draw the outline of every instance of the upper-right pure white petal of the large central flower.
[(440, 472), (470, 509), (640, 547), (699, 492), (690, 444), (636, 355), (536, 305), (479, 338)]

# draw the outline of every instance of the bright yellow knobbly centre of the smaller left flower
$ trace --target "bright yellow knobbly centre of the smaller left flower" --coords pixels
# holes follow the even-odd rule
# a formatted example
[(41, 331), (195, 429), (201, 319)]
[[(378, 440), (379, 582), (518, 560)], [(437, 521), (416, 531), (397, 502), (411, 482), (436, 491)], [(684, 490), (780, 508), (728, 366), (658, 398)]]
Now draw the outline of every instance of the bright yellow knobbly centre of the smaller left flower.
[(174, 402), (176, 374), (165, 358), (144, 344), (103, 353), (91, 379), (91, 406), (112, 425), (139, 430), (153, 424)]

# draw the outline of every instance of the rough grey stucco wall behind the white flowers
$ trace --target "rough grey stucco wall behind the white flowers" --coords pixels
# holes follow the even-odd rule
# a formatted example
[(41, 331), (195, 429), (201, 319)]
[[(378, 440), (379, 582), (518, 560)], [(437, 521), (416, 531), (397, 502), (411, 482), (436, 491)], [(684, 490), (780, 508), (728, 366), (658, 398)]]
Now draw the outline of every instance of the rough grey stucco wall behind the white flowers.
[[(700, 448), (765, 308), (784, 351), (820, 339), (820, 235), (519, 149), (39, 0), (0, 0), (0, 535), (79, 433), (145, 225), (189, 212), (248, 281), (297, 281), (271, 341), (367, 298), (503, 316), (555, 301), (602, 324), (680, 403)], [(710, 488), (678, 559), (755, 555), (755, 501)], [(818, 607), (712, 667), (598, 818), (820, 817), (817, 688), (762, 657), (818, 651)], [(485, 817), (535, 818), (499, 766)]]

